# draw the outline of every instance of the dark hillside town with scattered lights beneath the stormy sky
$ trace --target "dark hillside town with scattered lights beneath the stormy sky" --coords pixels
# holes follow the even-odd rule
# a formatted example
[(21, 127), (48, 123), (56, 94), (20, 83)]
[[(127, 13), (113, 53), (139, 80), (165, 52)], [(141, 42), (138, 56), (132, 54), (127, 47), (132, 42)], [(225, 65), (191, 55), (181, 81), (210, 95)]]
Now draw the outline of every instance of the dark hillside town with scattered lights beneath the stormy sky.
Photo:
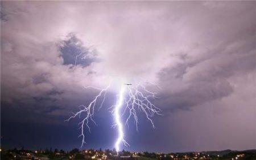
[(256, 150), (245, 151), (212, 151), (212, 152), (186, 152), (186, 153), (149, 153), (149, 152), (115, 152), (115, 150), (94, 150), (94, 149), (72, 149), (67, 152), (64, 150), (39, 149), (0, 149), (1, 159), (256, 159)]

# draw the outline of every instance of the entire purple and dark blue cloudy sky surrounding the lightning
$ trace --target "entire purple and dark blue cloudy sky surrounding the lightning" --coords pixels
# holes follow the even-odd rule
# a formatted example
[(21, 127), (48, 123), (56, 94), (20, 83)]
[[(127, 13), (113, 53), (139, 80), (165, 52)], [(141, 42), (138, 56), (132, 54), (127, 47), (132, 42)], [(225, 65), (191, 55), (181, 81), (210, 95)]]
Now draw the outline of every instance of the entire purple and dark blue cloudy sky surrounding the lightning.
[[(79, 148), (85, 86), (158, 83), (155, 129), (140, 115), (126, 150), (256, 148), (256, 2), (1, 1), (1, 141)], [(110, 89), (84, 148), (114, 148)]]

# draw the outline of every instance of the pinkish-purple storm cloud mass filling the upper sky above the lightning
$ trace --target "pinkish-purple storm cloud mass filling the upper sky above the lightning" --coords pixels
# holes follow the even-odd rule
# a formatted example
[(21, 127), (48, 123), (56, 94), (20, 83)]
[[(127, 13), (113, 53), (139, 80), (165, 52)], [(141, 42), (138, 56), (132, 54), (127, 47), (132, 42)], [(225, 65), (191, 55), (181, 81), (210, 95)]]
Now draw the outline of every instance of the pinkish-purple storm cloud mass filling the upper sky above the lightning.
[(253, 1), (1, 1), (2, 107), (67, 116), (97, 93), (84, 86), (143, 78), (159, 84), (166, 119), (216, 104), (249, 111), (255, 15)]

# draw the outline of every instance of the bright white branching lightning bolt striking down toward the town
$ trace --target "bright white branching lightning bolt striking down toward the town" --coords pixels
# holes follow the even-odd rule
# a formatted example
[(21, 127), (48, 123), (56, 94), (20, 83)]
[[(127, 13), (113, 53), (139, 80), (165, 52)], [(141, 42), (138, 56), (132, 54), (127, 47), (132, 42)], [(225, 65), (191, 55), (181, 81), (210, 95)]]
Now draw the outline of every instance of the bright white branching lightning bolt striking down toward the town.
[[(102, 101), (100, 103), (100, 106), (98, 109), (101, 109), (105, 97), (106, 92), (109, 89), (110, 85), (104, 89), (96, 88), (96, 87), (86, 87), (86, 88), (94, 88), (100, 90), (98, 95), (94, 97), (94, 100), (89, 103), (88, 106), (81, 105), (80, 111), (77, 113), (73, 113), (73, 116), (69, 117), (67, 121), (81, 116), (81, 114), (84, 114), (84, 119), (79, 123), (80, 129), (81, 129), (81, 137), (82, 137), (82, 145), (85, 143), (85, 134), (84, 134), (84, 127), (86, 126), (88, 128), (88, 131), (90, 132), (89, 122), (92, 121), (96, 124), (93, 120), (93, 114), (96, 107), (97, 101), (100, 101), (100, 97), (102, 98)], [(135, 85), (121, 85), (121, 88), (119, 89), (119, 92), (117, 94), (117, 102), (115, 105), (110, 107), (112, 111), (110, 111), (113, 114), (114, 117), (114, 124), (113, 127), (117, 127), (118, 130), (118, 137), (115, 141), (115, 150), (117, 153), (119, 152), (119, 146), (122, 143), (125, 146), (130, 146), (124, 139), (125, 134), (123, 132), (123, 123), (122, 123), (122, 116), (127, 115), (125, 118), (125, 125), (128, 126), (128, 123), (131, 119), (134, 120), (136, 129), (138, 131), (138, 116), (137, 111), (141, 111), (146, 115), (146, 118), (149, 120), (149, 122), (152, 124), (152, 127), (155, 128), (155, 125), (152, 121), (152, 117), (157, 114), (160, 114), (160, 109), (156, 107), (151, 100), (154, 100), (157, 98), (156, 93), (150, 92), (149, 90), (144, 87), (142, 83), (136, 83)], [(123, 109), (123, 113), (121, 114), (121, 110)], [(80, 137), (79, 136), (79, 137)]]

